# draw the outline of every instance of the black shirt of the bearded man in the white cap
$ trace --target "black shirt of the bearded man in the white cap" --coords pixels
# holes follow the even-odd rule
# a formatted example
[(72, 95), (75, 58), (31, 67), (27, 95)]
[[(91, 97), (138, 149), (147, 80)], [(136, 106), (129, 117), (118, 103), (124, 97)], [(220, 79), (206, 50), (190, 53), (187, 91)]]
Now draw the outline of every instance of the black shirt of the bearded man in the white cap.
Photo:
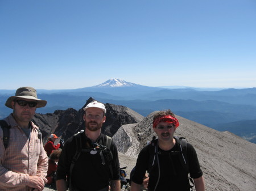
[[(81, 133), (79, 136), (81, 136), (82, 148), (88, 148), (91, 143), (90, 139), (86, 137), (85, 133)], [(106, 145), (106, 136), (101, 134), (96, 142), (100, 145)], [(112, 145), (110, 146), (110, 150), (113, 155), (111, 162), (113, 169), (113, 180), (119, 180), (118, 152), (113, 141)], [(63, 150), (61, 151), (57, 167), (57, 180), (65, 180), (66, 176), (69, 176), (69, 169), (75, 152), (76, 140), (74, 137), (71, 137), (67, 140), (67, 142), (65, 142)], [(81, 191), (94, 191), (108, 186), (110, 180), (110, 168), (108, 165), (108, 159), (106, 158), (105, 163), (105, 165), (102, 164), (102, 159), (99, 153), (90, 154), (90, 152), (81, 152), (72, 170), (72, 187)]]

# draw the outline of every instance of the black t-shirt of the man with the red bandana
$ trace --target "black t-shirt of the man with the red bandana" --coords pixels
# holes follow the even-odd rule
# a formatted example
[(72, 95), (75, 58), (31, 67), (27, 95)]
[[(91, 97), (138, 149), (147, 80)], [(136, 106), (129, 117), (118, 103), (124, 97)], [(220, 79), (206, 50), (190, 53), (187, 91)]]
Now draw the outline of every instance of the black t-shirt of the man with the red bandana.
[[(189, 191), (189, 180), (188, 180), (188, 172), (182, 166), (179, 158), (179, 154), (181, 154), (180, 145), (176, 144), (170, 151), (163, 151), (158, 147), (158, 150), (161, 152), (159, 154), (159, 164), (160, 164), (160, 179), (159, 177), (159, 168), (158, 162), (155, 159), (154, 166), (151, 168), (150, 179), (148, 182), (148, 190), (154, 190), (155, 185), (158, 182), (158, 186), (156, 191)], [(137, 184), (142, 184), (143, 176), (145, 172), (149, 168), (149, 159), (150, 159), (150, 151), (152, 149), (152, 145), (148, 145), (144, 147), (139, 153), (134, 176), (132, 181)], [(153, 148), (154, 149), (154, 148)], [(177, 151), (177, 154), (171, 154)], [(200, 169), (199, 161), (197, 159), (195, 148), (189, 143), (187, 144), (187, 160), (189, 164), (189, 173), (193, 179), (199, 178), (203, 175), (203, 172)]]

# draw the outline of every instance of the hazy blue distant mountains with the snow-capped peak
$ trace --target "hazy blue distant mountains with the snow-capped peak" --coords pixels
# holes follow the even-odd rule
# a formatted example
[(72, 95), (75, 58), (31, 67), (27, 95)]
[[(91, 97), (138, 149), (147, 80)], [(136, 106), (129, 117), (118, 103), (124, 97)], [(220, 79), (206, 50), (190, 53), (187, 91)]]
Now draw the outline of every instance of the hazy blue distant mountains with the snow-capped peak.
[[(53, 113), (55, 110), (68, 108), (79, 110), (86, 97), (92, 96), (104, 103), (124, 105), (143, 116), (159, 109), (171, 108), (180, 116), (214, 129), (218, 124), (256, 119), (256, 88), (197, 91), (191, 88), (168, 89), (134, 85), (121, 79), (110, 79), (102, 84), (106, 86), (47, 90), (43, 91), (44, 93), (38, 90), (38, 97), (47, 100), (48, 103), (46, 107), (38, 108), (37, 112)], [(119, 87), (113, 84), (119, 84)], [(127, 84), (129, 86), (126, 86)], [(5, 100), (13, 94), (0, 90), (0, 118), (12, 112), (5, 107)], [(232, 132), (238, 135), (236, 130), (233, 128)], [(251, 130), (251, 133), (256, 133), (256, 127)], [(253, 140), (251, 133), (243, 137)]]

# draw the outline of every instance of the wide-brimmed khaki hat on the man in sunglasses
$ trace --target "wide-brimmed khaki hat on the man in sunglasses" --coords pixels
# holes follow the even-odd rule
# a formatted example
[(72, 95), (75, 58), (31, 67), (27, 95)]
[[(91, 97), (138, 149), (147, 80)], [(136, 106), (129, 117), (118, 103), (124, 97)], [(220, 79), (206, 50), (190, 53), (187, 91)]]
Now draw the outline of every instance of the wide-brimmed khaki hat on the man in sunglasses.
[(18, 98), (24, 98), (24, 99), (31, 99), (31, 100), (36, 100), (36, 108), (42, 108), (46, 106), (47, 101), (46, 100), (40, 100), (38, 99), (38, 96), (36, 95), (36, 90), (35, 88), (32, 87), (20, 87), (16, 90), (15, 96), (11, 96), (6, 100), (6, 107), (9, 107), (13, 109), (11, 106), (11, 101), (15, 101)]

